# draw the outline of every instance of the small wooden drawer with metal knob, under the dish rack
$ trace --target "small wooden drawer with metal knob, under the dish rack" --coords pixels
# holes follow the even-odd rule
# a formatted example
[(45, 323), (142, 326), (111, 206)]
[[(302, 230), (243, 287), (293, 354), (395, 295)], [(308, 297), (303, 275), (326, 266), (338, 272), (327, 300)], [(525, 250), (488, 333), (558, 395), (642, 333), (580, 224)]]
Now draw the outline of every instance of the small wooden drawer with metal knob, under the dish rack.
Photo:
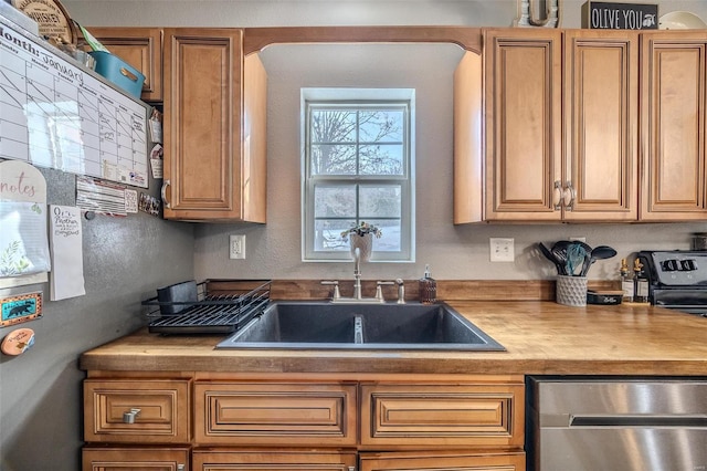
[[(190, 440), (189, 380), (84, 381), (88, 442), (186, 443)], [(125, 414), (139, 409), (130, 419)], [(130, 422), (131, 420), (131, 422)]]

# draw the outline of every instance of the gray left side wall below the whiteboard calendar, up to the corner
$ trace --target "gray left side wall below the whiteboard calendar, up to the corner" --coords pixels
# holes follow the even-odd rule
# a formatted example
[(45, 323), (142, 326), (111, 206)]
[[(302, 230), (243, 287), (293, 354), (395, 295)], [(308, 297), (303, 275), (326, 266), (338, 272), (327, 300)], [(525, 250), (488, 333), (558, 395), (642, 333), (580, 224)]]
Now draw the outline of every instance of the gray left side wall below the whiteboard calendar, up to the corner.
[[(49, 202), (74, 205), (75, 177), (41, 170)], [(78, 356), (145, 325), (140, 302), (155, 289), (193, 278), (191, 224), (145, 213), (82, 221), (86, 295), (52, 302), (48, 284), (27, 286), (43, 291), (42, 317), (0, 328), (0, 337), (17, 327), (35, 333), (24, 354), (0, 355), (2, 471), (80, 469), (85, 374)]]

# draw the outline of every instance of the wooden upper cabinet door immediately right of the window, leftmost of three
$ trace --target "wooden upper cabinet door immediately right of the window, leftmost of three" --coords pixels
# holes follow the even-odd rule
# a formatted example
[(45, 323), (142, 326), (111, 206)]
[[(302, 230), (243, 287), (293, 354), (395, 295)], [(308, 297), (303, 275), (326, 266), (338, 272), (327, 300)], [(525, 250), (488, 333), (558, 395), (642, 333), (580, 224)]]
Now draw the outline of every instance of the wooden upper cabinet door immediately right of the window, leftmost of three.
[(561, 218), (562, 33), (484, 33), (486, 214), (489, 221)]

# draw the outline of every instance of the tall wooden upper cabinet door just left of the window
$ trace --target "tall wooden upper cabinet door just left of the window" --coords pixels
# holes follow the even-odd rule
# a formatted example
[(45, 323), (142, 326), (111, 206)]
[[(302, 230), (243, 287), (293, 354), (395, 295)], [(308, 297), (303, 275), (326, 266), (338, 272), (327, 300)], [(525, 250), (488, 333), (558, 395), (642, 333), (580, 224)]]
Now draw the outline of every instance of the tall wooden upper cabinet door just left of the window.
[(165, 30), (165, 218), (244, 220), (243, 30)]

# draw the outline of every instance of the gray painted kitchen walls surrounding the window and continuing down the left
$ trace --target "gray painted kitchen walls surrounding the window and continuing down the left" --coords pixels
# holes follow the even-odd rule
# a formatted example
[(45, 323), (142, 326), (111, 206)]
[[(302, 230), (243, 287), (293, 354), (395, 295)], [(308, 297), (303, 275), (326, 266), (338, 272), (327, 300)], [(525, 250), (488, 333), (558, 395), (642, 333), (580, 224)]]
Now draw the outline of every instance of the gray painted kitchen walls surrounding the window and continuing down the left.
[[(63, 0), (83, 25), (270, 27), (342, 24), (509, 25), (516, 0)], [(562, 1), (562, 27), (580, 25), (583, 0)], [(703, 0), (659, 1), (661, 14), (689, 10), (707, 19)], [(403, 46), (404, 48), (404, 46)], [(345, 52), (341, 52), (345, 51)], [(363, 50), (361, 50), (363, 51)], [(366, 50), (368, 51), (368, 50)], [(359, 51), (360, 52), (360, 51)], [(389, 48), (357, 56), (358, 74), (334, 59), (357, 50), (296, 52), (272, 48), (264, 53), (270, 72), (268, 223), (198, 224), (98, 217), (84, 221), (87, 295), (46, 303), (44, 317), (27, 326), (36, 332), (33, 349), (0, 364), (0, 469), (76, 470), (82, 438), (78, 355), (144, 324), (139, 302), (159, 285), (188, 278), (347, 278), (347, 263), (303, 263), (299, 252), (299, 86), (327, 85), (313, 74), (331, 59), (327, 75), (337, 84), (383, 86), (408, 77), (418, 92), (418, 263), (380, 263), (363, 278), (416, 278), (424, 263), (440, 279), (539, 279), (551, 275), (529, 250), (532, 242), (584, 236), (591, 244), (614, 245), (620, 254), (642, 248), (687, 248), (705, 224), (463, 226), (452, 224), (451, 70), (458, 51), (441, 46)], [(376, 55), (373, 55), (376, 54)], [(378, 55), (381, 54), (381, 55)], [(296, 57), (286, 62), (288, 56)], [(349, 55), (350, 56), (350, 55)], [(386, 73), (371, 72), (387, 63)], [(366, 59), (366, 61), (363, 61)], [(384, 61), (384, 62), (380, 62)], [(298, 65), (299, 64), (299, 65)], [(359, 66), (360, 64), (360, 66)], [(367, 65), (363, 65), (367, 64)], [(317, 69), (315, 69), (317, 67)], [(336, 69), (338, 67), (338, 69)], [(369, 67), (366, 72), (365, 67)], [(289, 76), (292, 75), (292, 76)], [(315, 76), (316, 75), (316, 76)], [(317, 80), (315, 80), (317, 78)], [(328, 83), (329, 85), (331, 83)], [(436, 86), (435, 86), (436, 84)], [(440, 85), (442, 84), (442, 85)], [(393, 85), (389, 85), (393, 86)], [(401, 86), (395, 84), (394, 86)], [(50, 172), (51, 202), (72, 180)], [(228, 234), (247, 234), (247, 259), (228, 260)], [(516, 239), (516, 262), (488, 262), (488, 238)], [(612, 262), (613, 263), (613, 262)], [(595, 278), (614, 276), (613, 264), (593, 269)], [(46, 291), (46, 289), (45, 289)], [(0, 335), (8, 329), (0, 331)]]

